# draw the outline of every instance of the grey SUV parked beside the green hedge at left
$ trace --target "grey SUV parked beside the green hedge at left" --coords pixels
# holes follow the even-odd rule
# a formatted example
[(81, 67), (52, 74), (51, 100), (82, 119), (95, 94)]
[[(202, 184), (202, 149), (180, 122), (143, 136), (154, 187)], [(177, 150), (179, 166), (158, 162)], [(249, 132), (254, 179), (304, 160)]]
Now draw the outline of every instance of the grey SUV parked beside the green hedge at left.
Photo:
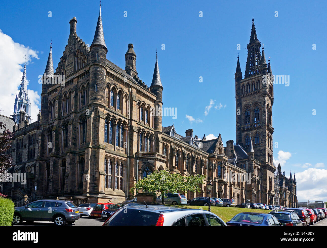
[(50, 221), (62, 226), (72, 224), (79, 218), (79, 209), (72, 201), (39, 200), (24, 207), (15, 207), (12, 223), (17, 225), (23, 221)]

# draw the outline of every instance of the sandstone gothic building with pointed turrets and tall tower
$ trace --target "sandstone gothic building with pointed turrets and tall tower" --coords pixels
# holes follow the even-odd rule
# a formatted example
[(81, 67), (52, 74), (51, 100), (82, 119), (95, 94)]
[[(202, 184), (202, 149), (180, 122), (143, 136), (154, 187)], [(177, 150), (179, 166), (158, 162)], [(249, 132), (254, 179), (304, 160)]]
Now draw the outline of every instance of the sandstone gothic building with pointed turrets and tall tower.
[[(239, 59), (235, 73), (236, 143), (224, 147), (217, 139), (199, 139), (193, 129), (185, 136), (175, 126), (162, 126), (161, 115), (151, 109), (163, 106), (163, 84), (156, 58), (148, 87), (138, 77), (133, 44), (125, 54), (125, 70), (107, 59), (101, 8), (94, 40), (88, 47), (77, 36), (77, 20), (70, 20), (68, 43), (53, 70), (52, 51), (43, 77), (42, 103), (38, 120), (14, 127), (11, 172), (27, 172), (26, 185), (12, 183), (5, 191), (19, 198), (79, 197), (113, 203), (133, 197), (130, 188), (157, 170), (184, 176), (205, 174), (214, 184), (213, 197), (231, 198), (237, 204), (249, 199), (273, 203), (272, 79), (261, 85), (271, 72), (264, 52), (260, 54), (254, 24), (248, 45), (246, 73), (242, 79)], [(48, 84), (51, 76), (66, 76), (66, 83)], [(254, 141), (254, 142), (252, 142)], [(251, 173), (246, 184), (246, 173)], [(239, 180), (230, 180), (236, 175)], [(242, 180), (240, 180), (242, 179)], [(200, 192), (187, 198), (205, 196)], [(88, 199), (88, 200), (89, 200)]]

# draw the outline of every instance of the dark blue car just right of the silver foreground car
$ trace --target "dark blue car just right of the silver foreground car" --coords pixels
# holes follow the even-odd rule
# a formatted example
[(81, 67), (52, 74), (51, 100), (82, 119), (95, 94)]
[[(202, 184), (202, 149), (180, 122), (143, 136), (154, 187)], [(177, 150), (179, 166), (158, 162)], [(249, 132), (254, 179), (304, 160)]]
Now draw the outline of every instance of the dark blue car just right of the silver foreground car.
[(266, 213), (239, 213), (227, 225), (281, 225), (275, 216)]

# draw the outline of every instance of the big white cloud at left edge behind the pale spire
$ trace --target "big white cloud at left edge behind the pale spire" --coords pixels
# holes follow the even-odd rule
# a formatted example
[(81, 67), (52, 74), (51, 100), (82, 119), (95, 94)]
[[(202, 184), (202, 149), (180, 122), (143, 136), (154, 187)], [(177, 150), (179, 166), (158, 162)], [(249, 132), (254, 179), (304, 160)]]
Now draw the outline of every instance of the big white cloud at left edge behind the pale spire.
[[(3, 110), (1, 111), (2, 115), (10, 116), (13, 114), (15, 97), (22, 81), (25, 55), (28, 64), (32, 58), (39, 59), (37, 53), (29, 47), (14, 42), (0, 29), (0, 108)], [(28, 79), (28, 66), (26, 67), (26, 74)], [(39, 113), (40, 95), (37, 91), (28, 90), (28, 96), (31, 99), (32, 119), (35, 121)]]

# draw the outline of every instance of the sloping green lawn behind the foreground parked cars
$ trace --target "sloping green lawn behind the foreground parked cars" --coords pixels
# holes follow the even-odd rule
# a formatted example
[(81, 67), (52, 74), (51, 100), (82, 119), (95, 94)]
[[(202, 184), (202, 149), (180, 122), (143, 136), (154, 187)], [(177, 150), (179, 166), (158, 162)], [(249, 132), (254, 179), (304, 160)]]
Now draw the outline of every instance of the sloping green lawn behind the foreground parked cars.
[[(169, 205), (172, 206), (172, 205)], [(176, 207), (176, 206), (172, 206)], [(208, 207), (204, 206), (178, 206), (178, 207), (187, 207), (194, 209), (203, 209), (208, 210)], [(252, 209), (254, 213), (269, 213), (271, 210), (263, 210), (263, 209)], [(239, 207), (211, 207), (211, 212), (218, 215), (224, 222), (230, 221), (236, 214), (241, 212), (251, 212), (250, 208), (239, 208)]]

